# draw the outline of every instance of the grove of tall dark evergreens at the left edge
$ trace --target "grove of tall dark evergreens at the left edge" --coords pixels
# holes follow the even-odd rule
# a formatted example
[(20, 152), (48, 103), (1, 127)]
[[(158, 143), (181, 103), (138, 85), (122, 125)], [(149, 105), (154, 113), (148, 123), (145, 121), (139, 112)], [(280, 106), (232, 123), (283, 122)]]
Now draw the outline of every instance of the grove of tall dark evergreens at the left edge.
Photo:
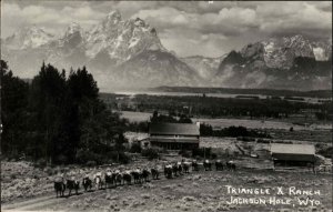
[(3, 60), (0, 70), (2, 155), (56, 164), (125, 160), (125, 123), (99, 99), (85, 67), (67, 74), (43, 63), (31, 83)]

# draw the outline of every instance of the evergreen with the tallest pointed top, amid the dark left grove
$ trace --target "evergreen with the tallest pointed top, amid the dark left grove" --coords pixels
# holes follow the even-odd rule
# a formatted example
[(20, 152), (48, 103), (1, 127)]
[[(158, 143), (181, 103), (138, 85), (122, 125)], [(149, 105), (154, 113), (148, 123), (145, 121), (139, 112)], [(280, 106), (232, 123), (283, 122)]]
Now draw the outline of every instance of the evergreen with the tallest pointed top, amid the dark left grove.
[[(59, 155), (58, 141), (62, 135), (65, 97), (65, 74), (51, 64), (41, 67), (31, 83), (30, 110), (33, 114), (32, 130), (34, 157), (49, 162)], [(58, 151), (57, 151), (58, 150)]]

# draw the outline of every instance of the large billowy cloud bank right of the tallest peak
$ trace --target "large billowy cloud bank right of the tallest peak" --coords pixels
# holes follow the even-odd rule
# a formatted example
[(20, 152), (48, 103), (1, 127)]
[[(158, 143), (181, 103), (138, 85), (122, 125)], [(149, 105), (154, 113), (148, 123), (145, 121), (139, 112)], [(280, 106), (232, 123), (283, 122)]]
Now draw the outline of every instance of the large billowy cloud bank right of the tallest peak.
[[(157, 26), (165, 47), (180, 54), (219, 55), (215, 53), (240, 49), (246, 42), (272, 36), (303, 33), (312, 39), (332, 37), (331, 9), (332, 2), (233, 1), (208, 4), (199, 1), (192, 7), (188, 2), (171, 2), (144, 8), (132, 17)], [(193, 38), (194, 34), (196, 38)], [(210, 39), (206, 42), (196, 40), (199, 48), (194, 48), (193, 39), (199, 38)]]

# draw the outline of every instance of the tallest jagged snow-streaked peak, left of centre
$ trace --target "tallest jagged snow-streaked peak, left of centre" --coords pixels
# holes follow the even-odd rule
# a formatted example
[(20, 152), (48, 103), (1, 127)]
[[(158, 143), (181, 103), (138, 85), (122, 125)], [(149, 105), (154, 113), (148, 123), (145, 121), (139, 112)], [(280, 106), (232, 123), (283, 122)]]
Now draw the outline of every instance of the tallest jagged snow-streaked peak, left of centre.
[(121, 20), (118, 10), (110, 12), (87, 37), (87, 54), (93, 60), (108, 53), (119, 64), (143, 50), (165, 49), (154, 28), (140, 18)]

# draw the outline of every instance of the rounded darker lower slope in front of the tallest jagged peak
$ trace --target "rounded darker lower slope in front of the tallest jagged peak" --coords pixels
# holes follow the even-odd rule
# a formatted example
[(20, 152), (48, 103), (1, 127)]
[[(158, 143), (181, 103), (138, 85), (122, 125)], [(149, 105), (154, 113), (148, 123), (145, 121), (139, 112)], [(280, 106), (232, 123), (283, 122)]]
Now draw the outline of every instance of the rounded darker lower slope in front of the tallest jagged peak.
[(145, 50), (131, 58), (117, 69), (115, 75), (117, 82), (134, 88), (159, 87), (161, 81), (170, 85), (204, 85), (204, 80), (186, 63), (159, 50)]

